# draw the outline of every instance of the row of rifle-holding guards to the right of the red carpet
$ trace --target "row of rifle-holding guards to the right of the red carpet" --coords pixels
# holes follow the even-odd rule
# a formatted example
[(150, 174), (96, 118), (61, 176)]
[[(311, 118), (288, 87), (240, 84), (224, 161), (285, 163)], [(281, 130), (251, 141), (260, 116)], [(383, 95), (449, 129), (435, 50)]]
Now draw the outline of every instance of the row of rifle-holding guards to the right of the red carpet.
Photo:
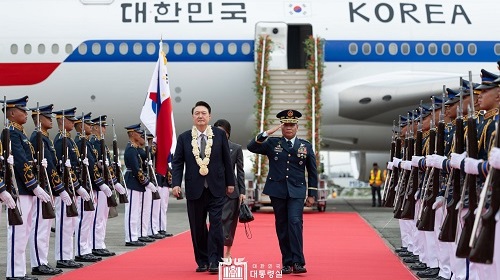
[(394, 125), (383, 203), (399, 219), (396, 253), (421, 278), (500, 279), (500, 78), (471, 80)]

